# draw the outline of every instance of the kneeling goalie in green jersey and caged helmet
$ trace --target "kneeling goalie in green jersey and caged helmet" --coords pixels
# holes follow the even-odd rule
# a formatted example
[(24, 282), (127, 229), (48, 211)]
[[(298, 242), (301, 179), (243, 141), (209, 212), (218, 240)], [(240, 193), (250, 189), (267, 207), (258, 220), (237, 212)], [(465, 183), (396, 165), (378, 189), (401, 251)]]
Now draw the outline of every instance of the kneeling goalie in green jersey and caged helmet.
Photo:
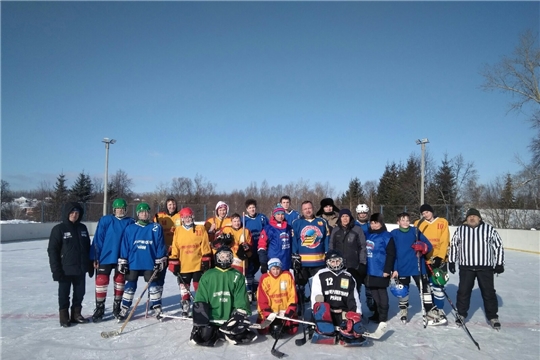
[(232, 250), (222, 246), (215, 254), (216, 267), (201, 277), (193, 304), (193, 344), (214, 346), (217, 340), (225, 339), (238, 345), (257, 338), (249, 329), (246, 278), (232, 268), (233, 257)]

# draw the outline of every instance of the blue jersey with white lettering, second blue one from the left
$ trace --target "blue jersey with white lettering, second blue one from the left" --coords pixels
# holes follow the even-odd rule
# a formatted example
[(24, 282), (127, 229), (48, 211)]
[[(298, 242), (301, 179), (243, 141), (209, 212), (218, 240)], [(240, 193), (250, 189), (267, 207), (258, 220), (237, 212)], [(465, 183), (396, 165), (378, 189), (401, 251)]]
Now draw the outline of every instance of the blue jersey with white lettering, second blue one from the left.
[(152, 270), (155, 260), (167, 256), (163, 228), (158, 223), (129, 225), (122, 236), (120, 257), (130, 270)]

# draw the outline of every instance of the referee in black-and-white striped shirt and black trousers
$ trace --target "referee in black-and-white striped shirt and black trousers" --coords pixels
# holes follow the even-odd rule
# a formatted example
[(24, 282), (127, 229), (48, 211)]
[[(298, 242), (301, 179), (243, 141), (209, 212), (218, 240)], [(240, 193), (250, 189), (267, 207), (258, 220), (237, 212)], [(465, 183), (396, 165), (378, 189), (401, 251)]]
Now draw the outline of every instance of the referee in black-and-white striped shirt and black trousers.
[(486, 317), (490, 325), (498, 330), (501, 323), (497, 316), (499, 304), (493, 278), (494, 274), (504, 272), (504, 249), (499, 233), (482, 221), (478, 210), (469, 209), (465, 223), (454, 233), (448, 261), (452, 274), (456, 272), (456, 262), (459, 262), (456, 324), (462, 325), (467, 318), (474, 281), (478, 279)]

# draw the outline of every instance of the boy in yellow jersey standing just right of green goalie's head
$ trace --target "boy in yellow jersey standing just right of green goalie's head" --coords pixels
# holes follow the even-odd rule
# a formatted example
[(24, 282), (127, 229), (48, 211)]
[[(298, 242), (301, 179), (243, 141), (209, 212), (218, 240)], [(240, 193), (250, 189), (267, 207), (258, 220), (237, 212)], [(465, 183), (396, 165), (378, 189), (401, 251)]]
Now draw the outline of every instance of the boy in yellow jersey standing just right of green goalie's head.
[[(232, 241), (230, 245), (227, 245), (231, 248), (234, 258), (232, 267), (246, 275), (247, 269), (247, 259), (251, 257), (251, 233), (248, 229), (242, 227), (242, 221), (239, 214), (233, 214), (231, 216), (231, 227), (226, 227), (223, 229), (223, 235), (230, 234), (232, 236)], [(221, 245), (215, 246), (216, 240), (214, 240), (213, 251), (214, 253)], [(226, 245), (226, 244), (223, 244)], [(253, 281), (253, 280), (252, 280)], [(248, 284), (249, 287), (249, 284)]]

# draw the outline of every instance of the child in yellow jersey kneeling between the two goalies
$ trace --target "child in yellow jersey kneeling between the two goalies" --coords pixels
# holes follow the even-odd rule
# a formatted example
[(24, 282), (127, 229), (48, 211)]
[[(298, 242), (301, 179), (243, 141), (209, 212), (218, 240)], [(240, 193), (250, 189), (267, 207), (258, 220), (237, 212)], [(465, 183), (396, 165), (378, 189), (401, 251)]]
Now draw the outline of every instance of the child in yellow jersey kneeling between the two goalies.
[[(257, 323), (262, 323), (268, 315), (276, 313), (288, 318), (297, 319), (296, 288), (294, 278), (288, 270), (281, 271), (281, 261), (272, 258), (268, 261), (269, 272), (263, 274), (259, 279), (257, 290), (257, 310), (259, 317)], [(279, 339), (281, 334), (294, 335), (298, 332), (298, 323), (276, 319), (269, 328), (259, 329), (259, 334), (270, 335), (274, 339)]]

